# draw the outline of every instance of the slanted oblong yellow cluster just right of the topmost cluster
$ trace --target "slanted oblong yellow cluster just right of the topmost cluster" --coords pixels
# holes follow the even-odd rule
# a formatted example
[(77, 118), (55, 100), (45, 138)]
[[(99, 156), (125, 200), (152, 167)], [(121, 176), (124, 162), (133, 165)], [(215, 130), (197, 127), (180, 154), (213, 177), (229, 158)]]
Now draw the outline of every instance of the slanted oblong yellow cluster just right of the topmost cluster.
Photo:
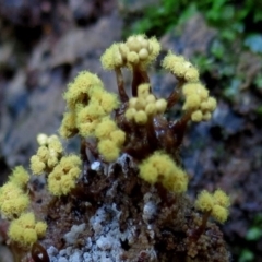
[(175, 74), (176, 78), (184, 79), (186, 82), (199, 81), (199, 70), (182, 56), (177, 56), (169, 51), (164, 58), (162, 66)]

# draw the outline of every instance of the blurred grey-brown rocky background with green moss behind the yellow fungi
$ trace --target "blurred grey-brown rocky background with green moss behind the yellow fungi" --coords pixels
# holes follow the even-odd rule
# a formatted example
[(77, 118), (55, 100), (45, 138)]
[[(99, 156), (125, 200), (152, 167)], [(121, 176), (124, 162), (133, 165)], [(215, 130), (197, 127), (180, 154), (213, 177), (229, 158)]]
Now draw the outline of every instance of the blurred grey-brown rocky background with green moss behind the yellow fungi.
[[(260, 0), (0, 4), (1, 181), (14, 165), (28, 164), (36, 133), (58, 129), (64, 110), (61, 94), (78, 71), (97, 72), (116, 90), (109, 74), (102, 72), (100, 53), (130, 34), (156, 35), (165, 47), (186, 53), (199, 67), (202, 81), (218, 99), (213, 120), (191, 124), (181, 148), (191, 175), (190, 195), (201, 189), (226, 190), (233, 207), (223, 231), (234, 261), (262, 260)], [(159, 73), (152, 83), (165, 96), (175, 82)]]

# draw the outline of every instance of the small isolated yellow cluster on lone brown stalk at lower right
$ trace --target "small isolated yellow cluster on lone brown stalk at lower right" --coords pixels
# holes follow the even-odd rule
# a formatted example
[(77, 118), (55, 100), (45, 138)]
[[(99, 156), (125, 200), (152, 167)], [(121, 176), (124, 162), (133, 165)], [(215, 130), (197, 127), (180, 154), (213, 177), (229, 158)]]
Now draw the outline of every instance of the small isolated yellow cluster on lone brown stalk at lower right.
[(198, 210), (211, 212), (211, 215), (219, 223), (224, 223), (227, 219), (229, 205), (229, 196), (221, 189), (217, 189), (214, 194), (203, 190), (195, 201)]

